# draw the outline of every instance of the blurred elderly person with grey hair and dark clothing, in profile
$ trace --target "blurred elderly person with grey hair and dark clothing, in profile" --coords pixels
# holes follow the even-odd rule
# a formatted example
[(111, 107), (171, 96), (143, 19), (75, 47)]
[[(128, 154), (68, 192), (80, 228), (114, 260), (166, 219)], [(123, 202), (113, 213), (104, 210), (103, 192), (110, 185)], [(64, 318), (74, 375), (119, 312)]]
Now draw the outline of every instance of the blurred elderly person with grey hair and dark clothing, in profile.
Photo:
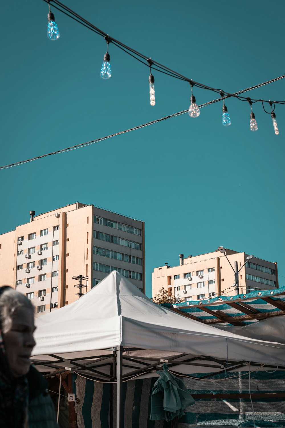
[(30, 365), (34, 330), (31, 301), (0, 287), (0, 428), (58, 428), (47, 382)]

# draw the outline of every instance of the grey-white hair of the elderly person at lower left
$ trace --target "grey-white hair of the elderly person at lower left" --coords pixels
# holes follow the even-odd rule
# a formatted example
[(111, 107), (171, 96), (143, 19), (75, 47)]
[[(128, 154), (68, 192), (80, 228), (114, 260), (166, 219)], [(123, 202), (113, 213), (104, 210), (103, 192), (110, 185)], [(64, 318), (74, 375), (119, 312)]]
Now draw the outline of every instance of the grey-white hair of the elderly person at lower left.
[(0, 324), (2, 333), (5, 334), (10, 330), (13, 313), (16, 309), (23, 306), (34, 310), (31, 300), (12, 287), (7, 287), (0, 293)]

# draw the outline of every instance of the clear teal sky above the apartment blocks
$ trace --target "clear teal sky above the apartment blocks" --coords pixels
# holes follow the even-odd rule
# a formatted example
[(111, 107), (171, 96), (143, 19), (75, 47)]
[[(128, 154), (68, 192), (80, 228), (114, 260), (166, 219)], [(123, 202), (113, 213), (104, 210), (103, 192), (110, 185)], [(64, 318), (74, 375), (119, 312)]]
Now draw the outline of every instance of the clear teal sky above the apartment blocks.
[[(52, 4), (52, 3), (51, 3)], [(66, 1), (110, 36), (193, 80), (236, 92), (285, 74), (284, 0)], [(190, 85), (157, 71), (150, 106), (147, 67), (110, 45), (112, 78), (100, 68), (106, 42), (52, 9), (60, 39), (47, 39), (47, 3), (1, 7), (1, 161), (6, 165), (185, 110)], [(285, 79), (248, 93), (285, 99)], [(217, 98), (194, 87), (197, 103)], [(246, 95), (247, 96), (247, 95)], [(153, 268), (218, 246), (278, 262), (285, 285), (285, 105), (279, 135), (256, 103), (222, 104), (0, 171), (0, 233), (36, 214), (83, 202), (145, 221), (146, 286)], [(75, 274), (77, 274), (76, 272)]]

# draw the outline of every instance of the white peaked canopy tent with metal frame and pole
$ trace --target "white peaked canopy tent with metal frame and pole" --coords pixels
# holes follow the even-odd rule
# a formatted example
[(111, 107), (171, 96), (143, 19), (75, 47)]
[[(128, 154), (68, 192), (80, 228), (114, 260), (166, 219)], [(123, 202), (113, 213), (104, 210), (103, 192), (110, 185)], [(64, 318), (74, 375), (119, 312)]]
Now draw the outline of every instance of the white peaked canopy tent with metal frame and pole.
[(68, 369), (117, 381), (118, 428), (122, 381), (154, 376), (164, 362), (177, 374), (248, 369), (248, 362), (285, 365), (285, 345), (185, 318), (153, 303), (116, 271), (76, 302), (37, 318), (36, 326), (32, 360), (40, 371)]

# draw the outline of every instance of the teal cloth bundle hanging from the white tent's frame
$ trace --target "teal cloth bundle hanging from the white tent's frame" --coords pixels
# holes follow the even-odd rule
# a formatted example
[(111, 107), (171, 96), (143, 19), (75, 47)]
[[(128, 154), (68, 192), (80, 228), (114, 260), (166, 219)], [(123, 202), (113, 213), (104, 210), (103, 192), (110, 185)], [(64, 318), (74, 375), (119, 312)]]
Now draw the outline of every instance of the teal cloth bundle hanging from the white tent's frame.
[(167, 364), (163, 371), (156, 372), (159, 379), (151, 392), (150, 420), (165, 419), (172, 421), (175, 416), (185, 415), (184, 409), (195, 403), (183, 381), (168, 372)]

